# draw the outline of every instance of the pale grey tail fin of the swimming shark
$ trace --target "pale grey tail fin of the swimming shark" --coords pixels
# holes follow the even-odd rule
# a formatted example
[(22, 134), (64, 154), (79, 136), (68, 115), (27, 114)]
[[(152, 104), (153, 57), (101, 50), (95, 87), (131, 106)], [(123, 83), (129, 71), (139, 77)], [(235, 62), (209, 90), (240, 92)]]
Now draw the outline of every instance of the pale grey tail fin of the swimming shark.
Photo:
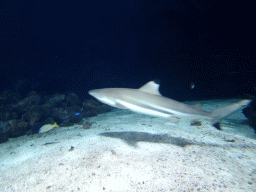
[(212, 124), (219, 122), (221, 119), (231, 115), (232, 113), (236, 112), (237, 110), (247, 106), (250, 104), (252, 100), (241, 100), (231, 105), (218, 108), (216, 110), (211, 111), (212, 117)]

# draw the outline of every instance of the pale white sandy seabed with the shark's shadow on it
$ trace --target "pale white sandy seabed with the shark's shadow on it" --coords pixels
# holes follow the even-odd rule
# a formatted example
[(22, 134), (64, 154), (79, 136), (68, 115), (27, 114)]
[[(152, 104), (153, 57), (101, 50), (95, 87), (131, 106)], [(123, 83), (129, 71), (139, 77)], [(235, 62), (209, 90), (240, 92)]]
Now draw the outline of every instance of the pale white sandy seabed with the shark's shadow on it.
[(0, 191), (256, 191), (256, 136), (244, 119), (239, 111), (219, 131), (114, 110), (88, 118), (87, 130), (10, 139), (0, 144)]

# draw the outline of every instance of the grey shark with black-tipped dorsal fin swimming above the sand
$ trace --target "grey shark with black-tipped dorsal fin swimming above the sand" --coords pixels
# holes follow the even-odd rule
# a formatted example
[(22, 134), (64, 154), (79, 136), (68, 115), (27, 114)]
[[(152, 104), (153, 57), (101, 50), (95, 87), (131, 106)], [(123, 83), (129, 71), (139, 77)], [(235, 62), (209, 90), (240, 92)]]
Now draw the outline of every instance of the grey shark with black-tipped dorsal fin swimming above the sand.
[(213, 125), (251, 102), (241, 100), (212, 111), (204, 111), (201, 104), (188, 105), (162, 96), (159, 92), (159, 81), (150, 81), (139, 89), (94, 89), (89, 94), (102, 103), (119, 109), (165, 117), (176, 123), (180, 118), (209, 119)]

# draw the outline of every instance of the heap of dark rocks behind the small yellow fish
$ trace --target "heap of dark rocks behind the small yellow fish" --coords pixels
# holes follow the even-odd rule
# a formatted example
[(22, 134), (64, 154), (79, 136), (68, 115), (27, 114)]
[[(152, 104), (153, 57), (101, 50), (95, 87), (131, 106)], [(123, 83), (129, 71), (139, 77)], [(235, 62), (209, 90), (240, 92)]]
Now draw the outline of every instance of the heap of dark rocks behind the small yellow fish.
[[(44, 101), (44, 102), (43, 102)], [(81, 101), (75, 93), (55, 94), (43, 100), (35, 92), (21, 98), (7, 90), (0, 95), (0, 142), (9, 137), (35, 134), (45, 124), (57, 122), (60, 126), (71, 126), (83, 118), (111, 111), (111, 107), (89, 99)]]

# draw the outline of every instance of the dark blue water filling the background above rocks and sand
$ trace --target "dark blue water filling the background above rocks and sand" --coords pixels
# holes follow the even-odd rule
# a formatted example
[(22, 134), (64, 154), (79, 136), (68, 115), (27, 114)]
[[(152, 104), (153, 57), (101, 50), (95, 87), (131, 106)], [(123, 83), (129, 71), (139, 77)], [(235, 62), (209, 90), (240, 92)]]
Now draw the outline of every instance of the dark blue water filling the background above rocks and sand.
[(0, 15), (1, 92), (83, 99), (161, 79), (180, 101), (255, 93), (253, 2), (3, 0)]

